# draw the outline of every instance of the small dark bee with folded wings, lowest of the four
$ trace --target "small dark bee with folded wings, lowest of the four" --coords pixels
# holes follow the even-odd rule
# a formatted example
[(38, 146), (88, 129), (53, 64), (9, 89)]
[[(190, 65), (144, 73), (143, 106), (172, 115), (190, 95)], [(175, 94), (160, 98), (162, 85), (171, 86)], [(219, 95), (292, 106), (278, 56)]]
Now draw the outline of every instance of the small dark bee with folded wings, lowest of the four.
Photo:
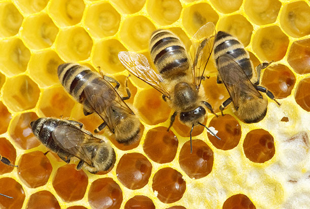
[(72, 157), (91, 173), (108, 170), (115, 163), (115, 152), (105, 141), (93, 136), (83, 124), (72, 120), (39, 118), (30, 123), (32, 132), (43, 145), (55, 152), (64, 162)]

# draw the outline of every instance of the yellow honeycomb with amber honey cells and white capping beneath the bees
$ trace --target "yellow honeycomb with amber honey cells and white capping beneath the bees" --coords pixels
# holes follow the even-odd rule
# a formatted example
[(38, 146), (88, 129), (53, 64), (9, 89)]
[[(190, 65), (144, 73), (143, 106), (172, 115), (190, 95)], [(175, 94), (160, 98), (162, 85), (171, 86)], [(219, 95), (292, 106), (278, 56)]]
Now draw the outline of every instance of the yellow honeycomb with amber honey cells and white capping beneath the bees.
[[(102, 121), (84, 116), (64, 91), (57, 66), (78, 62), (124, 83), (128, 73), (119, 51), (146, 55), (150, 34), (170, 29), (189, 47), (200, 26), (236, 36), (256, 66), (271, 61), (261, 85), (266, 117), (245, 124), (232, 108), (193, 131), (176, 120), (160, 93), (131, 76), (128, 103), (139, 115), (143, 137), (132, 146), (103, 133), (116, 163), (97, 175), (66, 164), (33, 136), (29, 122), (63, 117), (92, 131)], [(228, 98), (211, 76), (202, 83), (216, 112)], [(3, 0), (0, 1), (0, 208), (284, 208), (310, 205), (310, 3), (306, 0)], [(120, 92), (124, 88), (120, 88)]]

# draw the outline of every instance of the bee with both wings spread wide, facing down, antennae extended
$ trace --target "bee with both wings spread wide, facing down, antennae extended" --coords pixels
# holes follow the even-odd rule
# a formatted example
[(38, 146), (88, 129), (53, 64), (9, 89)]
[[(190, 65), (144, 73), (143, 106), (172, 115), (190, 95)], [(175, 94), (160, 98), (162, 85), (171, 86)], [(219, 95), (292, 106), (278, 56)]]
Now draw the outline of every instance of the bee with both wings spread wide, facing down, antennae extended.
[[(191, 56), (190, 60), (184, 44), (176, 34), (162, 29), (154, 31), (150, 39), (150, 53), (160, 74), (152, 69), (142, 54), (118, 54), (127, 71), (161, 92), (163, 99), (175, 110), (170, 118), (168, 130), (178, 114), (180, 121), (191, 127), (190, 142), (194, 126), (204, 126), (202, 123), (207, 117), (205, 107), (216, 115), (210, 103), (205, 101), (203, 89), (200, 89), (201, 80), (205, 78), (205, 66), (213, 50), (215, 35), (212, 22), (203, 25), (191, 40), (194, 56)], [(208, 127), (204, 127), (215, 135)]]

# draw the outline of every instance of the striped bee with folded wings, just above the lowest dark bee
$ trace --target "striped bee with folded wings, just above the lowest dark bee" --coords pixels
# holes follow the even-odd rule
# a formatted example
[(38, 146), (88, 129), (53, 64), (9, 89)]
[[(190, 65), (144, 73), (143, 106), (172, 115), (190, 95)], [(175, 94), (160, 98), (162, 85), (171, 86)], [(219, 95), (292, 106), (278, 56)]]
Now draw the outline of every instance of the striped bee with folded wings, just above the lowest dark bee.
[[(130, 98), (127, 87), (127, 96), (121, 97), (117, 90), (120, 84), (108, 76), (101, 77), (85, 66), (75, 63), (64, 63), (58, 66), (58, 78), (65, 90), (83, 106), (84, 115), (96, 112), (104, 122), (98, 126), (95, 133), (105, 126), (115, 134), (119, 143), (129, 145), (140, 139), (140, 120), (123, 100)], [(113, 87), (110, 83), (116, 83)]]

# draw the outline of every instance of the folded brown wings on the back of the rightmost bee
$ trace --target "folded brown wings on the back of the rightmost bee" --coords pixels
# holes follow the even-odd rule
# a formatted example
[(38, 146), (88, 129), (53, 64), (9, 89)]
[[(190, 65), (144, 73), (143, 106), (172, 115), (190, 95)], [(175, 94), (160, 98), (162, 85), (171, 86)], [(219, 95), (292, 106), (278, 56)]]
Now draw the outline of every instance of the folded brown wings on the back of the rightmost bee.
[(218, 59), (218, 71), (225, 84), (230, 98), (237, 109), (239, 107), (238, 98), (241, 94), (261, 97), (253, 83), (248, 78), (242, 67), (233, 60), (229, 54), (224, 54)]

